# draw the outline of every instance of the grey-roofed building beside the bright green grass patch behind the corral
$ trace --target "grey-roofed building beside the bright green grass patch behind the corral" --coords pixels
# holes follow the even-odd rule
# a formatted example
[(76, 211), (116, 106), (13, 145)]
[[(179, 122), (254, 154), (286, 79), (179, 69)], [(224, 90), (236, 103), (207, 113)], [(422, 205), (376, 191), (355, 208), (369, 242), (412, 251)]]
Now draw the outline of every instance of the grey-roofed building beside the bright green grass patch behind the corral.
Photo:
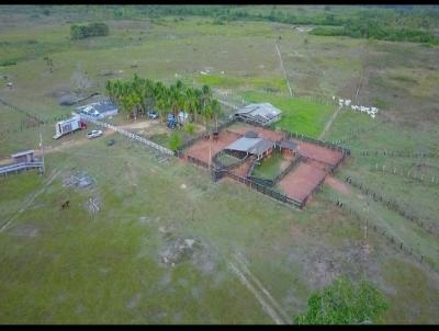
[(282, 112), (271, 103), (251, 103), (236, 111), (234, 116), (246, 122), (270, 125), (281, 118)]

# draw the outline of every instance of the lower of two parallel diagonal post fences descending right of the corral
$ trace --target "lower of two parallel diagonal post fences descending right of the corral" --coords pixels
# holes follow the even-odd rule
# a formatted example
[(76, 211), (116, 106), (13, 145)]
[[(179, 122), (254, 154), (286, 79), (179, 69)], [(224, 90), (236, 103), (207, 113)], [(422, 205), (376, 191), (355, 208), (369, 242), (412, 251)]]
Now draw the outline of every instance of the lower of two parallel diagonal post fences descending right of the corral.
[(352, 219), (357, 220), (360, 227), (364, 227), (365, 225), (368, 225), (368, 229), (372, 229), (374, 232), (384, 237), (390, 243), (392, 243), (393, 248), (395, 248), (401, 252), (406, 253), (407, 255), (410, 255), (417, 262), (429, 266), (432, 272), (439, 273), (439, 269), (432, 259), (429, 259), (420, 254), (419, 252), (416, 252), (416, 250), (414, 250), (412, 246), (405, 243), (404, 241), (397, 238), (394, 238), (391, 233), (387, 232), (386, 229), (378, 226), (375, 222), (370, 221), (370, 218), (361, 215), (356, 209), (351, 208), (345, 201), (340, 198), (328, 198), (328, 197), (325, 197), (324, 199), (326, 199), (329, 203), (334, 203), (337, 207), (341, 208), (346, 214), (351, 215)]

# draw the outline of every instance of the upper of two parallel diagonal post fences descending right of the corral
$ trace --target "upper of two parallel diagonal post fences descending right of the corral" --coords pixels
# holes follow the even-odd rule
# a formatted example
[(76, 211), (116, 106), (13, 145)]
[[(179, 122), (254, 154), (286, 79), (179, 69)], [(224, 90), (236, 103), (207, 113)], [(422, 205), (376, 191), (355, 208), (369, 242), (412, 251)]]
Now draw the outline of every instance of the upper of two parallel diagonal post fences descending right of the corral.
[(407, 219), (407, 220), (412, 221), (413, 224), (425, 229), (427, 232), (432, 233), (432, 235), (439, 233), (438, 220), (435, 221), (432, 219), (426, 219), (425, 217), (420, 217), (415, 212), (413, 212), (412, 207), (407, 207), (407, 204), (403, 204), (403, 203), (397, 202), (396, 199), (384, 197), (382, 194), (373, 192), (372, 190), (367, 187), (359, 180), (353, 180), (352, 176), (347, 176), (345, 179), (345, 182), (349, 183), (353, 187), (359, 189), (365, 195), (371, 196), (374, 202), (382, 203), (390, 210), (396, 212), (397, 214), (403, 216), (405, 219)]

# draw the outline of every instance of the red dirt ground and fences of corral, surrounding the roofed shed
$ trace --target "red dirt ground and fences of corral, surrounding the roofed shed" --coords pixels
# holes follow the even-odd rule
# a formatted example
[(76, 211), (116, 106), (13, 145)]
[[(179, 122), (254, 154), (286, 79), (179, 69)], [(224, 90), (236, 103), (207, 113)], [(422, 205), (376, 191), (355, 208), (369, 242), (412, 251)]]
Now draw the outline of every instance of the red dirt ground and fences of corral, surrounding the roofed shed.
[[(258, 133), (259, 137), (280, 141), (295, 140), (299, 145), (299, 155), (274, 180), (267, 180), (249, 175), (255, 167), (254, 158), (246, 158), (232, 164), (222, 167), (213, 159), (221, 155), (226, 146), (244, 136), (248, 130)], [(217, 139), (203, 132), (185, 142), (176, 153), (179, 158), (194, 163), (212, 173), (214, 181), (228, 176), (248, 185), (272, 198), (303, 208), (309, 197), (323, 185), (328, 173), (334, 172), (350, 155), (350, 150), (340, 146), (316, 140), (314, 138), (289, 133), (272, 130), (259, 125), (250, 125), (232, 119), (223, 123), (218, 129)], [(281, 192), (273, 186), (278, 184)]]

